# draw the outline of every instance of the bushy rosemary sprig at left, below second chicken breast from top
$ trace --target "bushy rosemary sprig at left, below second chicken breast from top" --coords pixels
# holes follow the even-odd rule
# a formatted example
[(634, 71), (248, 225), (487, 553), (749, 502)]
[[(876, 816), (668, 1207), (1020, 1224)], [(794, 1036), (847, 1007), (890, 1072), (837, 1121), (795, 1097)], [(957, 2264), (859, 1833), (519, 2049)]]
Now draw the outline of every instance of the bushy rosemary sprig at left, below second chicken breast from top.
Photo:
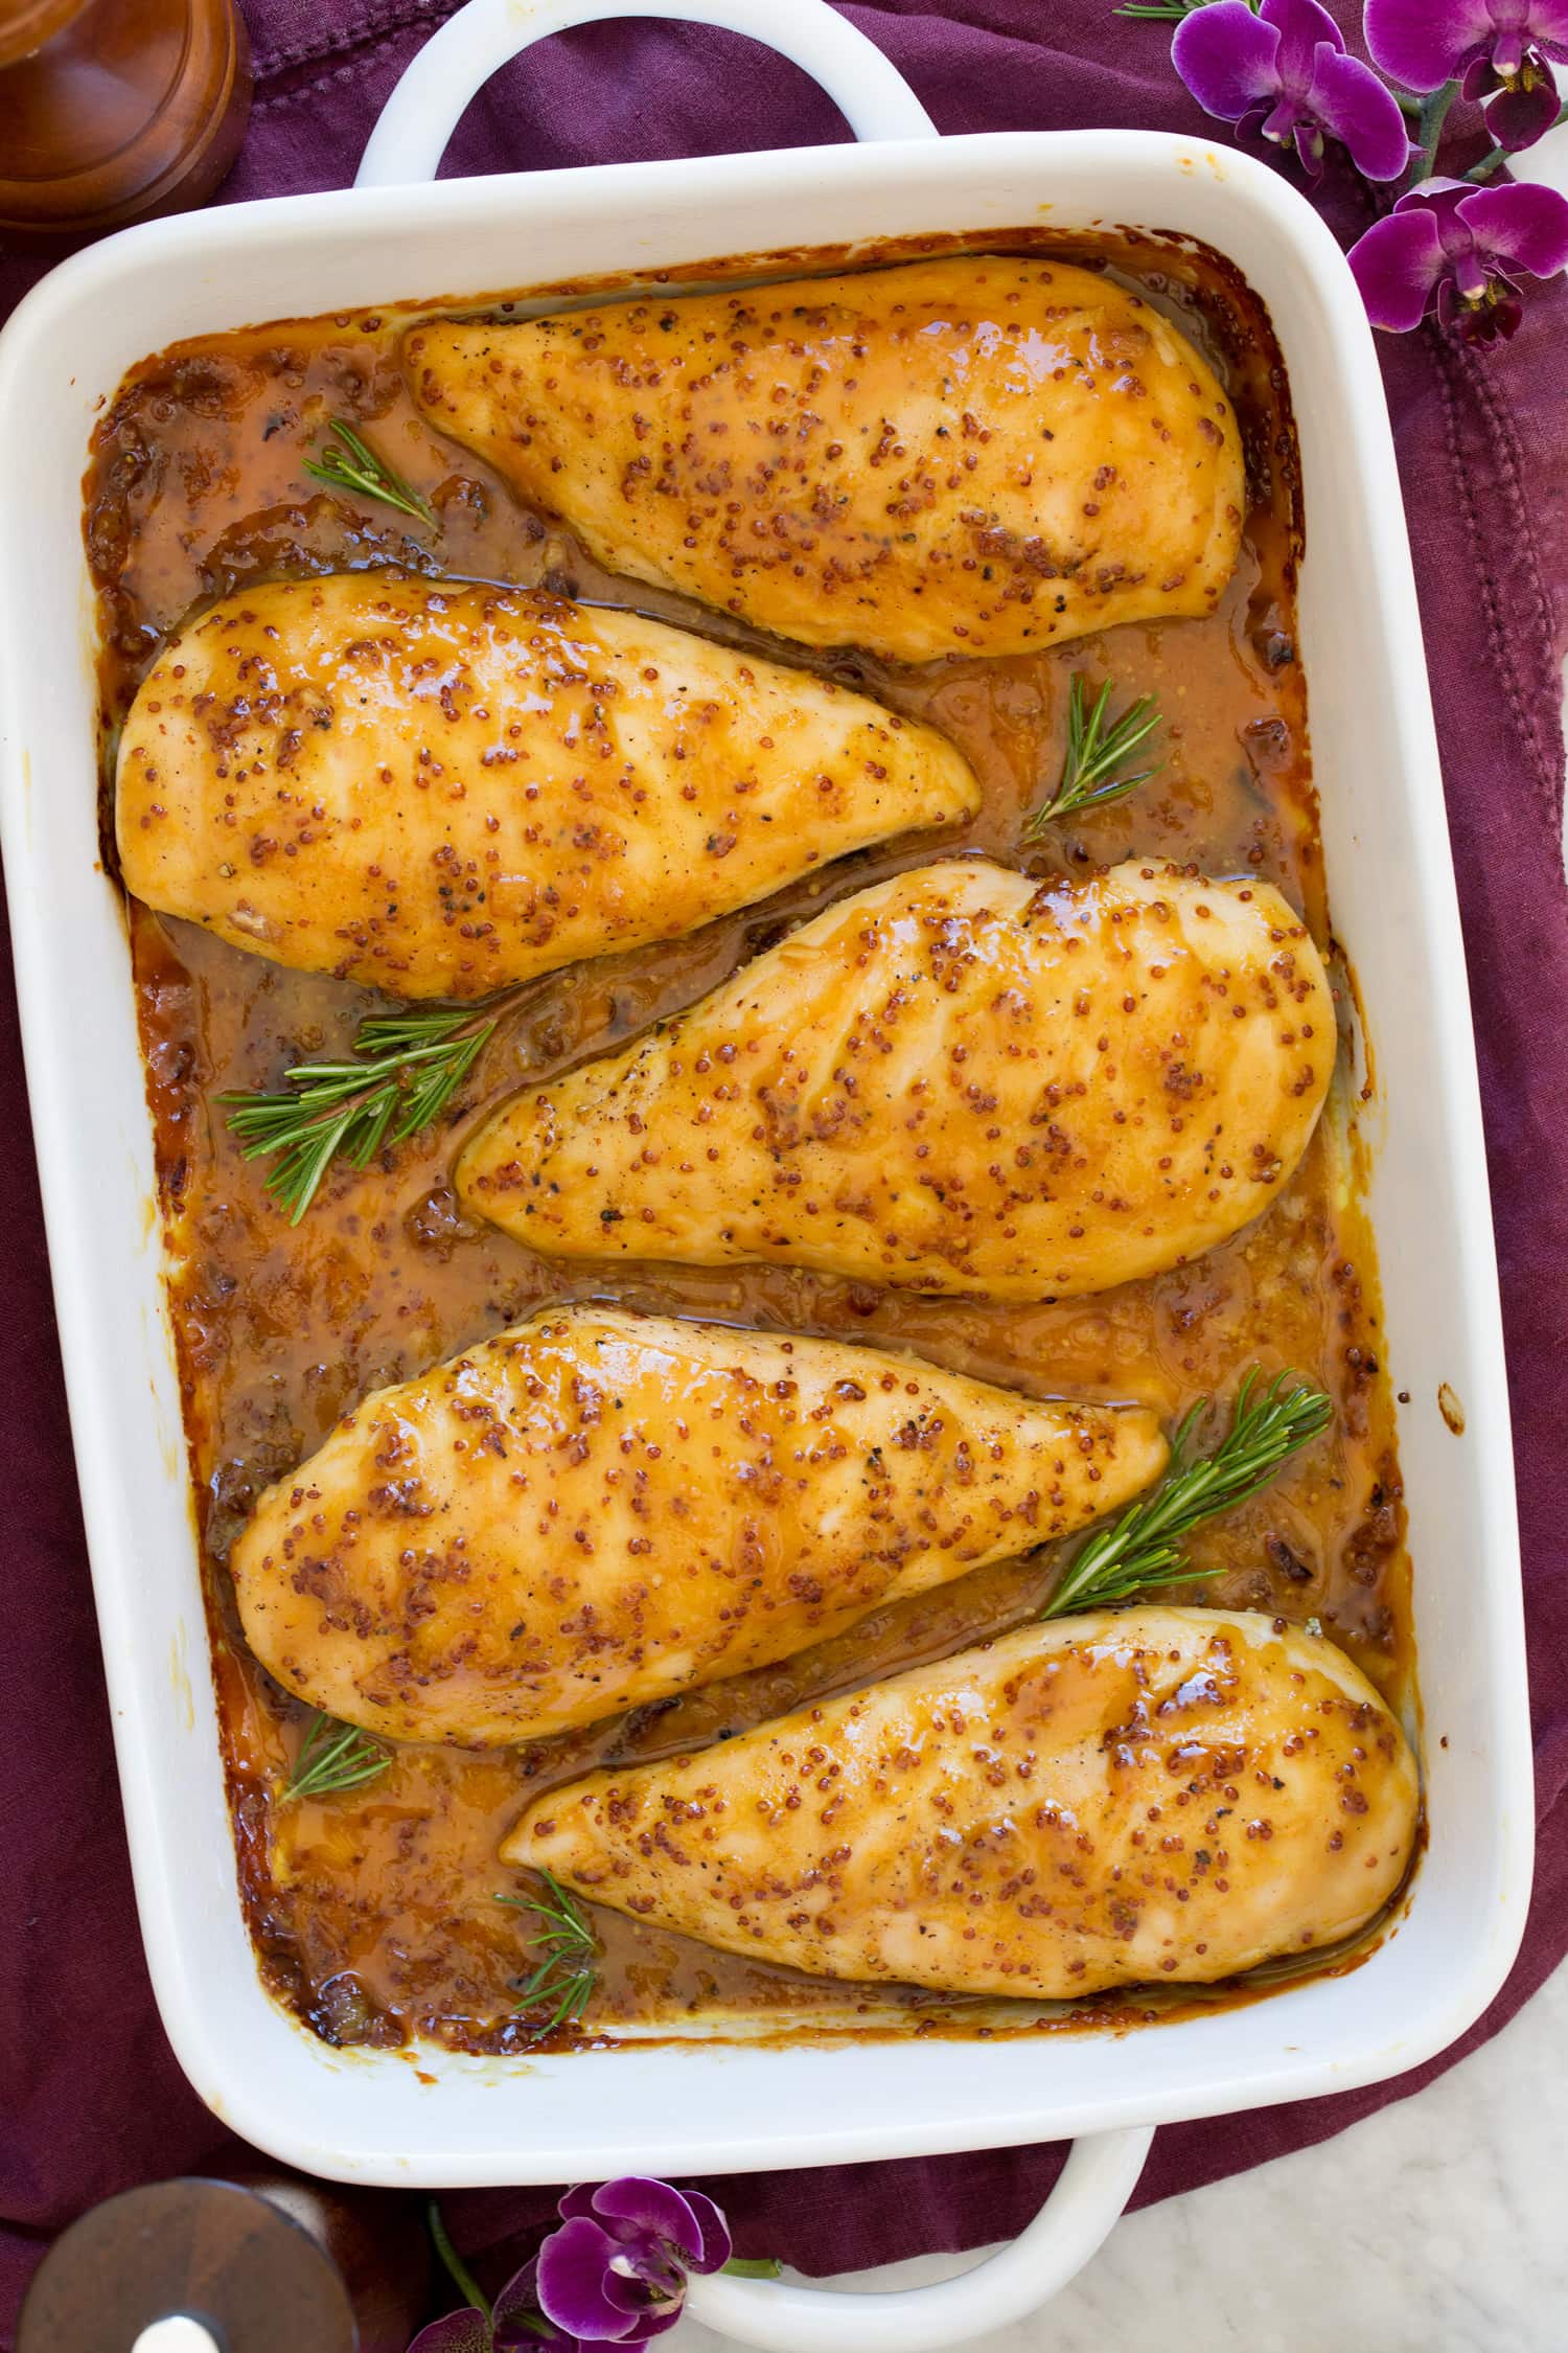
[(355, 1031), (357, 1061), (301, 1061), (282, 1092), (219, 1094), (219, 1104), (244, 1158), (275, 1160), (268, 1193), (299, 1226), (339, 1153), (367, 1169), (383, 1144), (440, 1120), (494, 1028), (451, 1005), (369, 1014)]

